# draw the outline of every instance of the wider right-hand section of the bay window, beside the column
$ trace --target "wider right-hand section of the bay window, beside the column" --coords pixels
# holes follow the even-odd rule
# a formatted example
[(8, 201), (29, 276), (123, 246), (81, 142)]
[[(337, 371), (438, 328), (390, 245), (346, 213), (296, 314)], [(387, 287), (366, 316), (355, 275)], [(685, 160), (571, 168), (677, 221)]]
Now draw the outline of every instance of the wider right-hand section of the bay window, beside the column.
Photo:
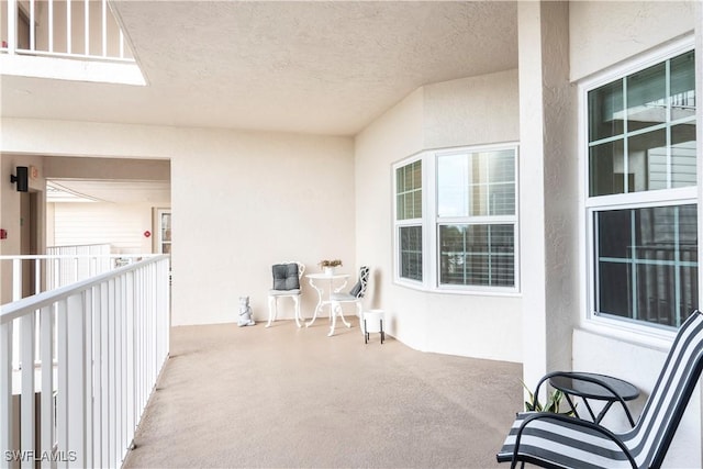
[(515, 286), (515, 152), (437, 156), (439, 284)]

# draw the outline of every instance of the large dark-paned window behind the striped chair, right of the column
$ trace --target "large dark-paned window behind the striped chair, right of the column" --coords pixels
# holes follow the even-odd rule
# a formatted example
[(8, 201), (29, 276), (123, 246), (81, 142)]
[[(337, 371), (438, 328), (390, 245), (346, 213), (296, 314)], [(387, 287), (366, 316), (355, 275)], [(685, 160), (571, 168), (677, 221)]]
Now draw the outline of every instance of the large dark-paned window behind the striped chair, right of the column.
[(693, 54), (585, 89), (595, 315), (677, 327), (698, 303)]

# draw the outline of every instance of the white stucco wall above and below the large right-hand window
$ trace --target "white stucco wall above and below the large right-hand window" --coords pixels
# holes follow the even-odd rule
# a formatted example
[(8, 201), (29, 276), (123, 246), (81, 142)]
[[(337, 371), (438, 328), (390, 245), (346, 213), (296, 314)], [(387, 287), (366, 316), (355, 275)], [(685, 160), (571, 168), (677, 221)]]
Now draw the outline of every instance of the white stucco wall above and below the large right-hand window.
[[(691, 35), (696, 25), (696, 66), (698, 74), (701, 76), (703, 18), (701, 7), (696, 7), (695, 3), (570, 2), (571, 79), (578, 83), (578, 80), (592, 77), (594, 74), (607, 72), (613, 67), (626, 64), (628, 58), (656, 52), (657, 48), (672, 41)], [(700, 82), (698, 94), (701, 94)], [(701, 109), (699, 109), (699, 142), (703, 141), (701, 122)], [(701, 150), (699, 145), (699, 192), (701, 191)], [(581, 163), (581, 171), (583, 170), (583, 163)], [(701, 205), (700, 202), (699, 205)], [(583, 243), (582, 238), (580, 245)], [(587, 261), (582, 259), (582, 263)], [(584, 269), (582, 265), (583, 276)], [(572, 367), (622, 377), (635, 383), (641, 390), (641, 397), (633, 406), (636, 416), (654, 388), (670, 347), (671, 336), (669, 338), (666, 335), (650, 336), (632, 330), (621, 331), (593, 324), (587, 319), (585, 294), (588, 293), (583, 290), (579, 302), (581, 304), (580, 326), (573, 332)], [(702, 402), (703, 397), (699, 390), (694, 392), (674, 436), (665, 467), (703, 466)], [(615, 414), (609, 424), (622, 425), (623, 418), (622, 414)]]

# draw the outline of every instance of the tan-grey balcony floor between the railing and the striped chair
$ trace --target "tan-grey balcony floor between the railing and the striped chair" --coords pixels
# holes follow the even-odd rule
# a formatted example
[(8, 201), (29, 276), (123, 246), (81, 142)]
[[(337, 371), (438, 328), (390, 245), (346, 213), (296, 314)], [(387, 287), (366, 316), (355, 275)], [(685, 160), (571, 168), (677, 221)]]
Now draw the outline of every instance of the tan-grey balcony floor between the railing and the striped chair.
[(427, 354), (356, 319), (171, 330), (124, 468), (490, 468), (522, 406), (516, 364)]

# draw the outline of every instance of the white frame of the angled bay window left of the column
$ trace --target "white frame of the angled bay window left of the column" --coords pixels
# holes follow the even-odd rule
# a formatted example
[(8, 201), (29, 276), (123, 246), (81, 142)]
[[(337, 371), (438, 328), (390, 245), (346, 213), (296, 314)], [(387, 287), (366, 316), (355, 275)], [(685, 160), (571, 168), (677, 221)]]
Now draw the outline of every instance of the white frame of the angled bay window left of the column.
[[(514, 225), (514, 286), (513, 287), (488, 287), (488, 286), (464, 286), (464, 284), (439, 284), (439, 261), (438, 252), (439, 226), (445, 224), (465, 224), (468, 219), (475, 223), (479, 217), (439, 217), (437, 215), (437, 160), (440, 156), (453, 154), (471, 154), (480, 152), (495, 152), (511, 149), (515, 158), (515, 214), (501, 216), (487, 216), (484, 221), (489, 224), (513, 224)], [(422, 219), (397, 220), (397, 170), (416, 160), (422, 160)], [(520, 146), (517, 142), (506, 142), (492, 145), (462, 146), (443, 149), (431, 149), (417, 153), (392, 165), (392, 213), (393, 213), (393, 280), (397, 284), (442, 293), (458, 294), (489, 294), (489, 295), (515, 295), (520, 293)], [(423, 280), (415, 281), (400, 277), (400, 227), (408, 225), (422, 226), (423, 236)], [(470, 223), (471, 224), (471, 223)]]

